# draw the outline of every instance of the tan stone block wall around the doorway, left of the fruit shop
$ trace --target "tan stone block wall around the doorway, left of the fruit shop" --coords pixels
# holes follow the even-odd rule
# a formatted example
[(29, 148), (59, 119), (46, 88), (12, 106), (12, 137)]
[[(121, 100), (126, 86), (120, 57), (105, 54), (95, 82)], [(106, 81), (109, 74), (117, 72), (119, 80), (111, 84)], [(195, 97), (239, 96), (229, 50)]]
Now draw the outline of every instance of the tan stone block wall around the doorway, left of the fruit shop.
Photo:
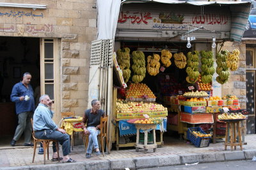
[[(16, 0), (46, 10), (0, 7), (0, 36), (60, 38), (61, 111), (83, 115), (87, 106), (90, 44), (97, 37), (96, 0)], [(58, 104), (58, 102), (57, 102)]]

